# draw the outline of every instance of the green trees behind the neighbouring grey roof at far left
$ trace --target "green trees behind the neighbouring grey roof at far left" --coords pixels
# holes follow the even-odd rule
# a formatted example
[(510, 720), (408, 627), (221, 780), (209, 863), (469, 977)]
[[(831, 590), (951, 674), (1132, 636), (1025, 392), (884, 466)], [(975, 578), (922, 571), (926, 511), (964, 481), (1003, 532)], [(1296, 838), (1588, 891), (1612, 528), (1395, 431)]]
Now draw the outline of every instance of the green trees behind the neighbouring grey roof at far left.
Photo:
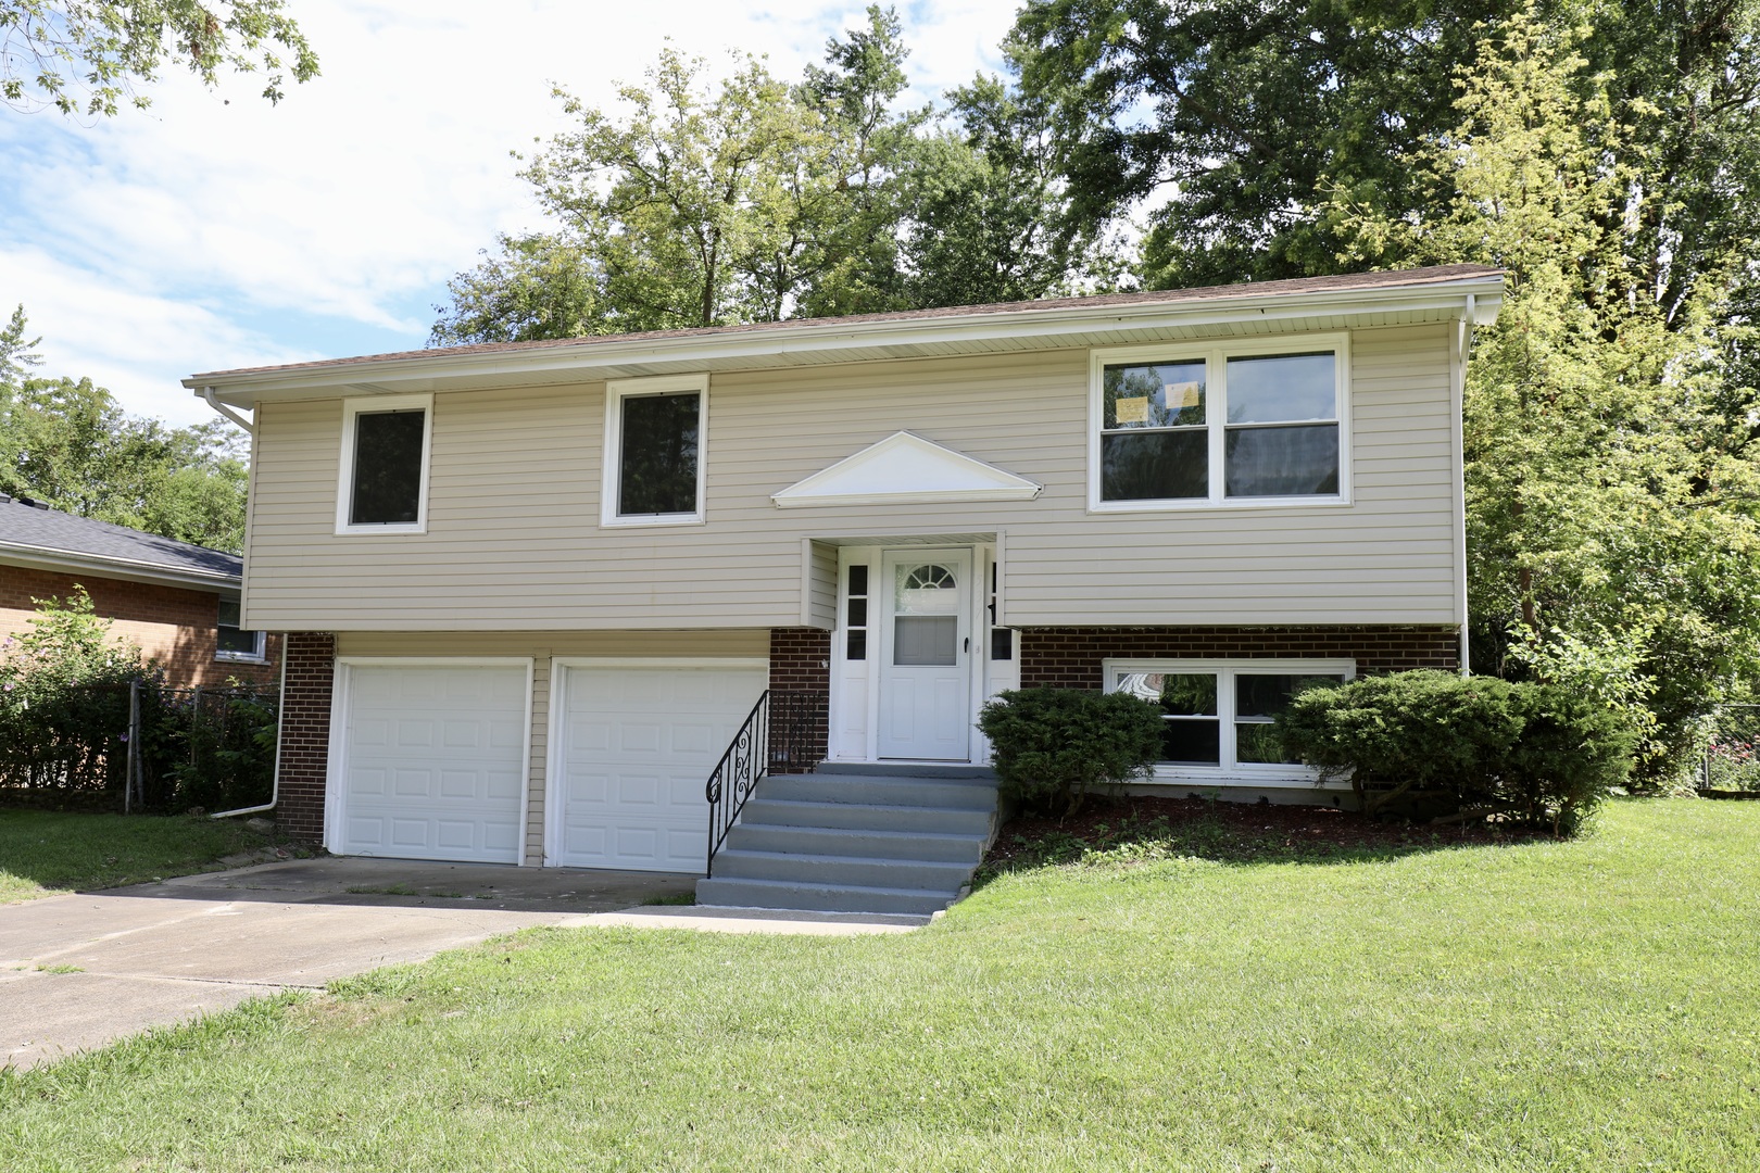
[(178, 542), (245, 547), (250, 473), (238, 427), (165, 427), (127, 415), (88, 378), (30, 378), (33, 345), (21, 306), (0, 331), (0, 492)]

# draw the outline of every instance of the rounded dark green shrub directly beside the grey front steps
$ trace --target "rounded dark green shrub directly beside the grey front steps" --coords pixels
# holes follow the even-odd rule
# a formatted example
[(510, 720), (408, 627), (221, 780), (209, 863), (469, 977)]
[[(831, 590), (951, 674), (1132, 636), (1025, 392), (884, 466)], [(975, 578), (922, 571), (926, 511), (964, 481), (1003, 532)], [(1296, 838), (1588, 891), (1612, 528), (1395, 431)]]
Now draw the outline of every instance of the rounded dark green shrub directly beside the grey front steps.
[(1162, 756), (1162, 710), (1126, 693), (1021, 688), (979, 712), (1003, 797), (1060, 814)]

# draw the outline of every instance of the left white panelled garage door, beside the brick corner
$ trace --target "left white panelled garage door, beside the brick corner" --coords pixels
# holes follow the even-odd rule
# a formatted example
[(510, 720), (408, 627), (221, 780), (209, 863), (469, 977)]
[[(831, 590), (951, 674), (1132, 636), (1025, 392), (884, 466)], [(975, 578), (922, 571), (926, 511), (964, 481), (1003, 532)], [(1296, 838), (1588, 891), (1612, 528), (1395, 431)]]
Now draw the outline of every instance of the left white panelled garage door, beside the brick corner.
[(348, 665), (341, 855), (517, 863), (524, 665)]

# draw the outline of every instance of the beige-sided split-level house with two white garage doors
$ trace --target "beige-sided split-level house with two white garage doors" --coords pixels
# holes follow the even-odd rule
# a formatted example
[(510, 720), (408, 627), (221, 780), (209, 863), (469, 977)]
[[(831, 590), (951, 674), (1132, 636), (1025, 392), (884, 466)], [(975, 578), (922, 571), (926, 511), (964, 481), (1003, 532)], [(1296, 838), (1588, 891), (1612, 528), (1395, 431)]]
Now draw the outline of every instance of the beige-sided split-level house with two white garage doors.
[(1500, 304), (1452, 266), (195, 375), (255, 413), (282, 823), (700, 872), (766, 689), (850, 793), (973, 772), (979, 705), (1056, 684), (1158, 700), (1170, 793), (1311, 798), (1264, 740), (1302, 679), (1463, 661)]

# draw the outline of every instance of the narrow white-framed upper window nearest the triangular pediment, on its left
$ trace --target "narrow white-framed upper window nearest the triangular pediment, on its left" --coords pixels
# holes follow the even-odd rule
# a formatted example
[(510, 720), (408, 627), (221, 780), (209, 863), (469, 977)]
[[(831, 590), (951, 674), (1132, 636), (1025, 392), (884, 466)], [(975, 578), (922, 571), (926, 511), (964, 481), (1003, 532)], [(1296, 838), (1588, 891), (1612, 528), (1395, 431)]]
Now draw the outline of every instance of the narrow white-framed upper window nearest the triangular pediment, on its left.
[(702, 521), (708, 375), (623, 378), (605, 385), (607, 526)]

